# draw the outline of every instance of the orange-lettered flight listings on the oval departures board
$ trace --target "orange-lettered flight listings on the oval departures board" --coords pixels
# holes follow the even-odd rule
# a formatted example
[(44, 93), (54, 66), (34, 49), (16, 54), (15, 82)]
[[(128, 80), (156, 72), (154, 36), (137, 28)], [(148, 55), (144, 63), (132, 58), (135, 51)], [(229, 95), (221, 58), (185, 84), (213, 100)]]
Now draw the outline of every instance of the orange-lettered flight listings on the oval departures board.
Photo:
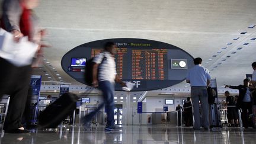
[[(92, 48), (91, 57), (103, 52)], [(121, 79), (168, 79), (168, 49), (116, 49), (117, 75)], [(132, 73), (131, 73), (132, 72)]]

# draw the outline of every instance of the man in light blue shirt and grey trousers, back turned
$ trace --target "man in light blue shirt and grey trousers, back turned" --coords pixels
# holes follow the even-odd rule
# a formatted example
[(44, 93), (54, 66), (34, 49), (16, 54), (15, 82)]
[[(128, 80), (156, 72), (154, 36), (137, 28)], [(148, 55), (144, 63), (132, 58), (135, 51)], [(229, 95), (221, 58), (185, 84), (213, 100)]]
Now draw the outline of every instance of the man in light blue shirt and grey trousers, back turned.
[[(194, 59), (194, 67), (187, 74), (187, 83), (190, 83), (191, 98), (194, 110), (194, 129), (199, 130), (200, 125), (205, 130), (209, 129), (209, 104), (207, 85), (210, 84), (210, 74), (208, 69), (201, 66), (203, 60), (200, 57)], [(200, 124), (199, 101), (202, 110), (202, 124)]]

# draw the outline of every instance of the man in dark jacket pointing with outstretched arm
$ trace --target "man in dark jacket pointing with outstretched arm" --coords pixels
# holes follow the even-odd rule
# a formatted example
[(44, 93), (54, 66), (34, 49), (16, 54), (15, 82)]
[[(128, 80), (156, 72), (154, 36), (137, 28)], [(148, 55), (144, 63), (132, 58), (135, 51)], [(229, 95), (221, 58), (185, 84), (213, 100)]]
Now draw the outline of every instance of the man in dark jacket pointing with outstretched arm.
[[(238, 89), (239, 95), (238, 100), (236, 101), (236, 107), (242, 108), (242, 123), (244, 124), (245, 129), (252, 123), (249, 120), (249, 114), (252, 114), (252, 98), (251, 98), (251, 91), (248, 87), (249, 79), (244, 79), (244, 85), (232, 86), (232, 85), (225, 85), (225, 88), (232, 88)], [(247, 113), (247, 111), (249, 111)]]

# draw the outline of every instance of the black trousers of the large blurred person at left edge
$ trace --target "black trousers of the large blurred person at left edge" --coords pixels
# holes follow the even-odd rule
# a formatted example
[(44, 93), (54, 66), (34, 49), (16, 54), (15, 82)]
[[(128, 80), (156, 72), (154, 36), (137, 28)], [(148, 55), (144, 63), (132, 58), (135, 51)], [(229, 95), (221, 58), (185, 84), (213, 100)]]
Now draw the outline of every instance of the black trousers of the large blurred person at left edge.
[(21, 122), (27, 101), (31, 66), (17, 67), (1, 57), (0, 66), (0, 97), (10, 95), (4, 130), (18, 129), (23, 126)]

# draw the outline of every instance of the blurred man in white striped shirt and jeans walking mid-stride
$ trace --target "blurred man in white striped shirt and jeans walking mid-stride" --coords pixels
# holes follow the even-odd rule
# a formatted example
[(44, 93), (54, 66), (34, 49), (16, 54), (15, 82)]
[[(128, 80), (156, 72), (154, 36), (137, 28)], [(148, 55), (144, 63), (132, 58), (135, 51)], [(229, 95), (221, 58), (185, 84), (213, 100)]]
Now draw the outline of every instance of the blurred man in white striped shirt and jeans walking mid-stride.
[[(107, 42), (104, 46), (104, 52), (99, 53), (92, 59), (92, 87), (98, 87), (103, 92), (105, 110), (107, 113), (107, 125), (105, 130), (120, 131), (121, 127), (114, 124), (114, 84), (118, 82), (122, 87), (126, 84), (121, 81), (116, 72), (116, 62), (114, 55), (116, 53), (116, 44)], [(101, 104), (97, 110), (92, 111), (85, 116), (85, 126), (91, 121), (92, 117), (97, 113), (104, 104)]]

